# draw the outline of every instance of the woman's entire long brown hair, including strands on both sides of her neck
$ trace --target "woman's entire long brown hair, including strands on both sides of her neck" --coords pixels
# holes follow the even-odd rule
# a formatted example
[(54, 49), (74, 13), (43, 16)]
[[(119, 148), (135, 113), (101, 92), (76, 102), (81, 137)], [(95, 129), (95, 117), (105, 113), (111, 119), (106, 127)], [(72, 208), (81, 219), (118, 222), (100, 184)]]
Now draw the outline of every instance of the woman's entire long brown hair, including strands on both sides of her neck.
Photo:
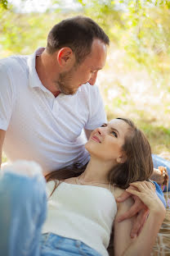
[[(128, 123), (129, 129), (125, 135), (122, 151), (126, 154), (127, 160), (118, 163), (110, 171), (108, 181), (111, 185), (118, 185), (122, 189), (128, 188), (134, 181), (147, 181), (153, 171), (151, 149), (148, 140), (143, 132), (136, 128), (134, 123), (126, 118), (117, 118)], [(74, 164), (60, 170), (52, 171), (47, 174), (46, 181), (65, 180), (70, 177), (79, 176), (85, 171), (87, 164), (81, 167)], [(54, 188), (55, 190), (56, 188)], [(53, 191), (54, 191), (53, 190)], [(53, 193), (52, 191), (52, 193)]]

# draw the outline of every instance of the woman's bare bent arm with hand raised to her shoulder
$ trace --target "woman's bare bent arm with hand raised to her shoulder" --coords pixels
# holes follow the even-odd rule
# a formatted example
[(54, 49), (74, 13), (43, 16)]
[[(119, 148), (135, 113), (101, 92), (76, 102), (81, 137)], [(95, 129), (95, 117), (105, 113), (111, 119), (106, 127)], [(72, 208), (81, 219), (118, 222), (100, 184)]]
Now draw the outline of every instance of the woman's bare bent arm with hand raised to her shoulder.
[(130, 220), (126, 220), (121, 223), (116, 222), (119, 214), (122, 214), (123, 211), (126, 211), (128, 208), (128, 203), (122, 204), (122, 206), (120, 205), (114, 223), (115, 256), (149, 256), (154, 246), (156, 235), (159, 232), (159, 228), (165, 216), (165, 208), (163, 207), (163, 203), (154, 193), (149, 182), (135, 182), (132, 183), (132, 185), (135, 186), (139, 191), (129, 189), (127, 191), (131, 194), (136, 194), (141, 199), (141, 201), (145, 203), (145, 205), (150, 209), (150, 214), (149, 217), (146, 219), (140, 235), (137, 236), (135, 239), (131, 239), (129, 233), (132, 226), (132, 220), (131, 222)]

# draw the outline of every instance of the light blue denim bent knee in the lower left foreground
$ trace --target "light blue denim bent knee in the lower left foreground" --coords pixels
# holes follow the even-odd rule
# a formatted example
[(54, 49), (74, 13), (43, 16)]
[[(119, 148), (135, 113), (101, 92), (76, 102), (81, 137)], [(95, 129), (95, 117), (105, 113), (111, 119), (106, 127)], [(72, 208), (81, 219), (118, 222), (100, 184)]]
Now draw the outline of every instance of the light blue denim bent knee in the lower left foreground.
[(47, 212), (43, 176), (6, 172), (0, 178), (0, 255), (38, 256)]

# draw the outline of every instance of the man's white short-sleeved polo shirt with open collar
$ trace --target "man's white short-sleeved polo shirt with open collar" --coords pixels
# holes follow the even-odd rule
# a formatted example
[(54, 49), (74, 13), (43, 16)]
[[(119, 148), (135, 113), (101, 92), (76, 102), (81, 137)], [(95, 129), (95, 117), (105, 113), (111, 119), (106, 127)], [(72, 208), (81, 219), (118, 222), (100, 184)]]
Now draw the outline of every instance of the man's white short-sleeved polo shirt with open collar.
[(74, 95), (56, 98), (35, 70), (36, 55), (0, 61), (0, 129), (7, 130), (3, 150), (7, 158), (38, 162), (53, 171), (74, 162), (86, 163), (88, 153), (81, 135), (106, 121), (96, 85), (82, 85)]

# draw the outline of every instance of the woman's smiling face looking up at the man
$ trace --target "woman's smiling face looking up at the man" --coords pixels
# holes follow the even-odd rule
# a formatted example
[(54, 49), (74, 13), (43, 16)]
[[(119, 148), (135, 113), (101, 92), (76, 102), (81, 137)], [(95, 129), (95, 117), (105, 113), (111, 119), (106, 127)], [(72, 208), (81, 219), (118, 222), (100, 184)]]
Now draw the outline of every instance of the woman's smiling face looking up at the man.
[(122, 146), (128, 129), (128, 123), (121, 119), (114, 119), (93, 130), (85, 148), (91, 157), (106, 162), (124, 162), (126, 156), (122, 152)]

